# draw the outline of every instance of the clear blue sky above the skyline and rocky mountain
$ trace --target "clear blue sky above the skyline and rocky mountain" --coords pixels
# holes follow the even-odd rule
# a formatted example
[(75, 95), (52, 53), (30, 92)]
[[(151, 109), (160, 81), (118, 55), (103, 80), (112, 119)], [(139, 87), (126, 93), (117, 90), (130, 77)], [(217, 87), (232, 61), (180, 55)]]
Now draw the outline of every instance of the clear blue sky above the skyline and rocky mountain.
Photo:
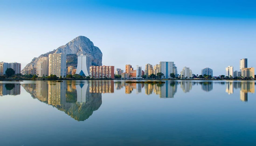
[(256, 1), (0, 0), (0, 61), (20, 62), (86, 36), (102, 64), (125, 69), (174, 61), (194, 74), (256, 67)]

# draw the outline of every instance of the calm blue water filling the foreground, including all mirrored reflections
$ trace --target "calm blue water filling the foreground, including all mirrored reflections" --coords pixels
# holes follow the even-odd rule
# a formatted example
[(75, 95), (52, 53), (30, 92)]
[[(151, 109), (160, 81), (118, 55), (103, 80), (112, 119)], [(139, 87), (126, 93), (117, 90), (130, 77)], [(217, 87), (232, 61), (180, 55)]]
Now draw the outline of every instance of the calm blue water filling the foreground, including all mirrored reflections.
[(254, 81), (0, 82), (1, 146), (255, 146)]

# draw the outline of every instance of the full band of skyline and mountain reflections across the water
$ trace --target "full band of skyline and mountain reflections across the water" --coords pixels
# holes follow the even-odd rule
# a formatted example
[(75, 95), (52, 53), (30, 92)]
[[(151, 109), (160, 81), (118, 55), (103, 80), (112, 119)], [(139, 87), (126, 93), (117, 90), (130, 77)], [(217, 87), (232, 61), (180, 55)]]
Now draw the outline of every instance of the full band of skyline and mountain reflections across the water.
[[(31, 83), (31, 82), (30, 82)], [(37, 81), (33, 84), (21, 84), (33, 98), (52, 105), (64, 111), (77, 121), (84, 121), (102, 104), (101, 94), (114, 93), (114, 90), (123, 90), (123, 93), (158, 95), (159, 98), (174, 98), (178, 87), (184, 93), (190, 92), (193, 86), (210, 92), (213, 84), (226, 87), (226, 93), (233, 94), (240, 91), (240, 100), (248, 101), (248, 93), (255, 93), (254, 81), (166, 81), (164, 84), (125, 83), (125, 81)], [(200, 87), (201, 86), (201, 87)], [(192, 88), (193, 87), (193, 88)], [(221, 89), (222, 90), (222, 89)], [(145, 91), (145, 92), (144, 92)], [(224, 90), (225, 91), (225, 90)], [(0, 96), (20, 94), (20, 84), (0, 84)], [(239, 96), (239, 95), (238, 95)]]

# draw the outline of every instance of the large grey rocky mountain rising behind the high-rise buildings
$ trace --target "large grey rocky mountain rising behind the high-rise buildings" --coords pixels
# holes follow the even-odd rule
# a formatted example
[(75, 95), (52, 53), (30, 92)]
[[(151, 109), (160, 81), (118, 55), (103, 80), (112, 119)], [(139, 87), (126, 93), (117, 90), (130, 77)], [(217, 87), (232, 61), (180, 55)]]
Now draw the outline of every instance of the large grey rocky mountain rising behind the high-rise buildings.
[(35, 68), (37, 65), (37, 61), (40, 58), (48, 57), (49, 54), (53, 53), (65, 53), (67, 55), (67, 66), (77, 66), (76, 55), (90, 55), (93, 65), (102, 66), (102, 52), (100, 51), (100, 49), (94, 46), (93, 42), (90, 41), (90, 39), (88, 39), (87, 37), (78, 36), (68, 42), (66, 45), (62, 45), (51, 52), (40, 55), (39, 57), (34, 57), (32, 61), (28, 63), (26, 67), (22, 70), (22, 73), (24, 74), (25, 71)]

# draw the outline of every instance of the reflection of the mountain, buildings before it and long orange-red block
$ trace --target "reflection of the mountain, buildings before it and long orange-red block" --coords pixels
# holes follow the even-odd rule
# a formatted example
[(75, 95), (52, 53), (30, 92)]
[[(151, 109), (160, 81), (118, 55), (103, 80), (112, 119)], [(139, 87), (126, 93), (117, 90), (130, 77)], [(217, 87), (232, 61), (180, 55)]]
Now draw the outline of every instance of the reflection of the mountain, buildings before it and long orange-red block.
[(102, 104), (102, 93), (114, 93), (113, 81), (64, 81), (23, 84), (33, 98), (64, 111), (77, 121), (84, 121)]

